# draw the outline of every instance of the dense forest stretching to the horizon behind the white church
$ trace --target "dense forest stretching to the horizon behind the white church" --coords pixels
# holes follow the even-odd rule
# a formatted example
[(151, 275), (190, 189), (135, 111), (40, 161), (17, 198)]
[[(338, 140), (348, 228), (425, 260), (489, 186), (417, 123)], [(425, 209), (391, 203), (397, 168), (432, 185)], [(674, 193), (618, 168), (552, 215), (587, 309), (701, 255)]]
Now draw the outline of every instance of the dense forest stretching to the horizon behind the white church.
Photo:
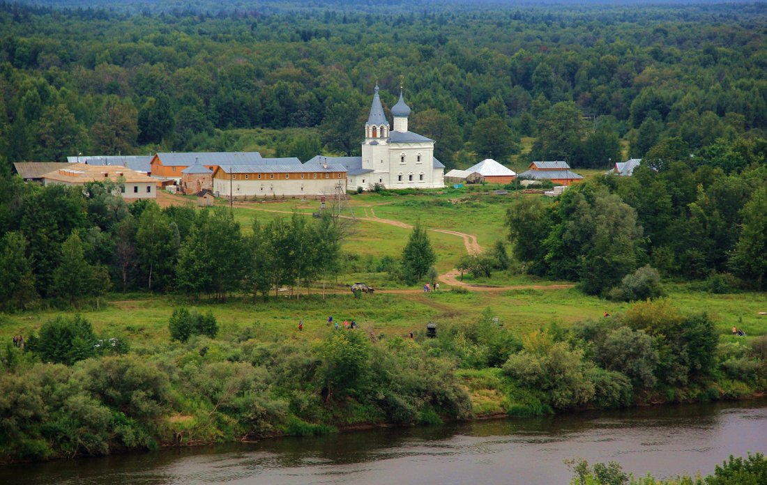
[[(0, 4), (3, 165), (78, 152), (355, 153), (374, 84), (388, 110), (400, 75), (412, 129), (448, 166), (504, 160), (522, 136), (538, 137), (533, 159), (605, 169), (622, 157), (619, 139), (644, 157), (678, 137), (718, 163), (765, 138), (760, 4), (391, 12)], [(295, 136), (238, 130), (259, 127)]]

